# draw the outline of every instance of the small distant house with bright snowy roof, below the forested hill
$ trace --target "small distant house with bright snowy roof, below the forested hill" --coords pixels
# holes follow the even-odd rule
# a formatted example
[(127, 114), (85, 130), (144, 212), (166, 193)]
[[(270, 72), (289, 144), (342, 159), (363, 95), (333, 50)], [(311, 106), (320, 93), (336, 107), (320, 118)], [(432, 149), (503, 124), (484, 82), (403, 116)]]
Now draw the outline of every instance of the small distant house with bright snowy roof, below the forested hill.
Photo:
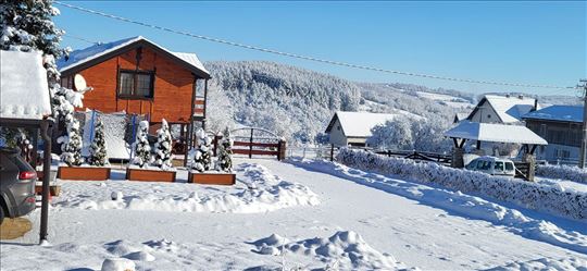
[(335, 146), (365, 147), (376, 125), (392, 121), (397, 114), (338, 111), (328, 123), (325, 133)]

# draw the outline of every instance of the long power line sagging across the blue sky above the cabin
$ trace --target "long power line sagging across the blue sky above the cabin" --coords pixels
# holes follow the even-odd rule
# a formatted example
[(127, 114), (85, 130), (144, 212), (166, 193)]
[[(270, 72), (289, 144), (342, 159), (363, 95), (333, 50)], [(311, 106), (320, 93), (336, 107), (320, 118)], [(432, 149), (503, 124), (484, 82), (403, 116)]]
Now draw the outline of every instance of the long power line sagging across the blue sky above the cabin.
[(192, 34), (192, 33), (188, 33), (188, 32), (176, 30), (176, 29), (164, 27), (164, 26), (159, 26), (159, 25), (154, 25), (154, 24), (139, 22), (139, 21), (135, 21), (135, 20), (130, 20), (130, 19), (126, 19), (126, 17), (121, 17), (121, 16), (117, 16), (117, 15), (108, 14), (108, 13), (100, 12), (100, 11), (95, 11), (95, 10), (90, 10), (90, 9), (86, 9), (86, 8), (64, 3), (64, 2), (61, 2), (61, 1), (54, 1), (54, 3), (59, 4), (59, 5), (62, 5), (62, 7), (65, 7), (65, 8), (83, 11), (83, 12), (86, 12), (86, 13), (91, 13), (91, 14), (95, 14), (95, 15), (100, 15), (100, 16), (104, 16), (104, 17), (109, 17), (109, 19), (113, 19), (113, 20), (117, 20), (117, 21), (122, 21), (122, 22), (126, 22), (126, 23), (132, 23), (132, 24), (140, 25), (140, 26), (145, 26), (145, 27), (150, 27), (150, 28), (154, 28), (154, 29), (159, 29), (159, 30), (164, 30), (164, 32), (168, 32), (168, 33), (173, 33), (173, 34), (184, 35), (184, 36), (188, 36), (188, 37), (192, 37), (192, 38), (203, 39), (203, 40), (208, 40), (208, 41), (212, 41), (212, 42), (216, 42), (216, 44), (223, 44), (223, 45), (240, 47), (240, 48), (245, 48), (245, 49), (249, 49), (249, 50), (255, 50), (255, 51), (283, 56), (283, 57), (302, 59), (302, 60), (321, 62), (321, 63), (338, 65), (338, 66), (346, 66), (346, 67), (352, 67), (352, 69), (366, 70), (366, 71), (383, 72), (383, 73), (389, 73), (389, 74), (399, 74), (399, 75), (407, 75), (407, 76), (414, 76), (414, 77), (452, 81), (452, 82), (462, 82), (462, 83), (474, 83), (474, 84), (484, 84), (484, 85), (528, 87), (528, 88), (565, 88), (565, 89), (574, 89), (575, 88), (574, 86), (572, 86), (572, 87), (563, 87), (563, 86), (554, 86), (554, 85), (534, 85), (534, 84), (521, 84), (521, 83), (508, 83), (508, 82), (494, 82), (494, 81), (477, 81), (477, 79), (467, 79), (467, 78), (457, 78), (457, 77), (447, 77), (447, 76), (422, 74), (422, 73), (394, 71), (394, 70), (387, 70), (387, 69), (380, 69), (380, 67), (373, 67), (373, 66), (366, 66), (366, 65), (360, 65), (360, 64), (352, 64), (352, 63), (346, 63), (346, 62), (340, 62), (340, 61), (333, 61), (333, 60), (313, 58), (313, 57), (308, 57), (308, 56), (302, 56), (302, 54), (297, 54), (297, 53), (283, 52), (283, 51), (278, 51), (278, 50), (274, 50), (274, 49), (267, 49), (267, 48), (262, 48), (262, 47), (258, 47), (258, 46), (245, 45), (245, 44), (234, 42), (234, 41), (224, 40), (224, 39), (220, 39), (220, 38), (214, 38), (214, 37), (209, 37), (209, 36), (203, 36), (203, 35), (197, 35), (197, 34)]

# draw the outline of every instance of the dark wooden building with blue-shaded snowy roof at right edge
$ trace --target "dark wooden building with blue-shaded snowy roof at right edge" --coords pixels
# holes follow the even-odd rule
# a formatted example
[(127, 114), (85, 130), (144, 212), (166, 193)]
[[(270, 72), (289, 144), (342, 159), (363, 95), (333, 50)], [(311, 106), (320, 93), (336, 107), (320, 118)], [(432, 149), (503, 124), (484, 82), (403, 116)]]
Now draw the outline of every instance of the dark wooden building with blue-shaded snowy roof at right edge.
[(583, 132), (580, 106), (550, 106), (522, 116), (526, 126), (548, 141), (537, 159), (549, 162), (577, 163)]

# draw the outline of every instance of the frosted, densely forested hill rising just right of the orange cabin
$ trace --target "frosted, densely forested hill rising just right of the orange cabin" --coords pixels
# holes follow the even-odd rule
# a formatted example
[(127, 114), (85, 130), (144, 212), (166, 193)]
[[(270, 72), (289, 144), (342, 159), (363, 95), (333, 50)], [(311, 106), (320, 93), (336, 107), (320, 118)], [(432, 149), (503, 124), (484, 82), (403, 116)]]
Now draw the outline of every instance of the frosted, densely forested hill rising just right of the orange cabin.
[(335, 111), (355, 111), (361, 100), (351, 82), (289, 65), (216, 61), (205, 66), (214, 87), (230, 100), (238, 124), (275, 131), (290, 140), (313, 140)]

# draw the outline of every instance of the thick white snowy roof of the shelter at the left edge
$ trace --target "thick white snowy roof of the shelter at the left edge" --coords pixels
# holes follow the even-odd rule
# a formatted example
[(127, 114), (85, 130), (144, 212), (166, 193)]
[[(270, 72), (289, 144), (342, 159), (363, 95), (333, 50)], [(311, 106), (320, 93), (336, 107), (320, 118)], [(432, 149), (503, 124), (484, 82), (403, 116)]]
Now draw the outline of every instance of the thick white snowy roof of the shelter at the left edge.
[(0, 118), (42, 120), (51, 114), (41, 52), (0, 51)]

